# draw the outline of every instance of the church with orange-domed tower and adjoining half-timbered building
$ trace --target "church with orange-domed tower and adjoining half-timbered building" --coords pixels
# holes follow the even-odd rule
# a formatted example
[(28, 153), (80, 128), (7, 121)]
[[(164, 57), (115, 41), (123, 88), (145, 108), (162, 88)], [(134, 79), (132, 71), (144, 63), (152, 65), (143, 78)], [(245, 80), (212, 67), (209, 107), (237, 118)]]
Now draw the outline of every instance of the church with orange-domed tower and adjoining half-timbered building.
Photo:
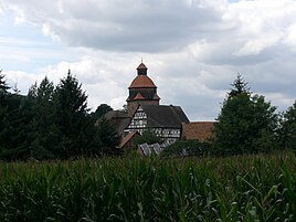
[[(180, 106), (160, 105), (157, 86), (148, 76), (147, 71), (147, 66), (140, 63), (137, 67), (136, 77), (128, 86), (127, 114), (114, 110), (105, 115), (123, 138), (119, 148), (126, 147), (135, 135), (141, 135), (145, 130), (151, 130), (160, 137), (161, 147), (167, 147), (181, 138), (187, 138), (187, 135), (182, 131), (183, 127), (191, 136), (190, 139), (199, 139), (194, 138), (194, 129), (200, 124), (207, 125), (210, 134), (211, 123), (190, 123)], [(192, 127), (193, 129), (191, 129)], [(199, 134), (203, 130), (202, 128), (199, 129)]]

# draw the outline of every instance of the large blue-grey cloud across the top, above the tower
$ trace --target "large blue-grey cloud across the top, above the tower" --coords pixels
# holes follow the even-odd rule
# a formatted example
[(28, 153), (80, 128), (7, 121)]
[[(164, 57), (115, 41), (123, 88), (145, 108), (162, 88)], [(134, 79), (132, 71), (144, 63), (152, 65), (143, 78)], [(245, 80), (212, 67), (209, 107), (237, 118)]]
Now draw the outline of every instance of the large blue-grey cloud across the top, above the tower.
[(24, 4), (14, 0), (8, 4), (23, 12), (28, 20), (45, 23), (52, 34), (70, 45), (161, 52), (182, 49), (197, 36), (216, 30), (221, 23), (221, 11), (201, 7), (202, 1), (192, 2), (88, 0), (74, 3), (61, 0), (46, 6), (40, 1)]

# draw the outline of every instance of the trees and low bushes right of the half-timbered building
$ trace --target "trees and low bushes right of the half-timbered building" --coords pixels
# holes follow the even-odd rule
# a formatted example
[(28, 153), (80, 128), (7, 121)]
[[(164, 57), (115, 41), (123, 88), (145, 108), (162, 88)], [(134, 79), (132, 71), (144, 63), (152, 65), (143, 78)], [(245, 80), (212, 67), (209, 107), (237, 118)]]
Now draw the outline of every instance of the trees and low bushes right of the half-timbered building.
[(239, 74), (228, 93), (207, 142), (180, 140), (163, 150), (163, 156), (231, 156), (296, 149), (296, 101), (286, 112), (264, 96), (253, 94)]

